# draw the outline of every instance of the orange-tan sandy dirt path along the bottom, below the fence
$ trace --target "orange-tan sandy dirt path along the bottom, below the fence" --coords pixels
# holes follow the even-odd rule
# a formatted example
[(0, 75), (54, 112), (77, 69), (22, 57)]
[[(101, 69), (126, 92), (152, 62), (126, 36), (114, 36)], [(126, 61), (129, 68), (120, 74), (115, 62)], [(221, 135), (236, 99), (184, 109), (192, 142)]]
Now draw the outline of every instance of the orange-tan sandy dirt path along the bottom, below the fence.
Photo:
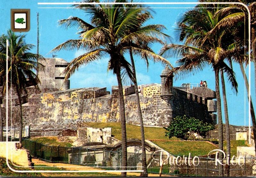
[[(102, 170), (99, 168), (95, 168), (95, 167), (91, 167), (91, 166), (81, 166), (81, 165), (73, 165), (73, 164), (64, 164), (64, 163), (49, 163), (49, 162), (45, 162), (41, 159), (32, 159), (32, 162), (36, 165), (46, 165), (46, 166), (58, 166), (58, 167), (62, 167), (65, 168), (67, 170), (76, 170), (76, 171), (82, 171), (82, 170)], [(117, 174), (117, 175), (121, 175), (121, 173), (118, 172), (105, 172), (106, 174)], [(50, 173), (42, 173), (44, 176), (49, 176)], [(140, 176), (140, 173), (127, 173), (128, 176)], [(72, 173), (63, 173), (63, 175), (59, 175), (58, 176), (72, 176)], [(158, 174), (148, 174), (149, 177), (158, 177)], [(166, 175), (162, 175), (162, 176), (166, 176)], [(168, 175), (168, 177), (170, 177), (170, 175)]]

